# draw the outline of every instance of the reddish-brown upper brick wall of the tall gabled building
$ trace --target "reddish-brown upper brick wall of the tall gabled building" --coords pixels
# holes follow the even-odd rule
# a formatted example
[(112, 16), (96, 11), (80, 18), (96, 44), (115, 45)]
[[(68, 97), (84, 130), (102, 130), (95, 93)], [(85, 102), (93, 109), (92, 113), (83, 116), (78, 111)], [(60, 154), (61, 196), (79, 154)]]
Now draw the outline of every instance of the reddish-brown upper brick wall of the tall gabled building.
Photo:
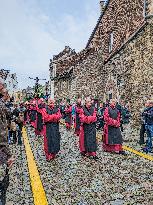
[[(136, 32), (144, 21), (144, 0), (108, 0), (87, 47), (102, 48), (106, 60)], [(110, 34), (113, 48), (109, 51)]]

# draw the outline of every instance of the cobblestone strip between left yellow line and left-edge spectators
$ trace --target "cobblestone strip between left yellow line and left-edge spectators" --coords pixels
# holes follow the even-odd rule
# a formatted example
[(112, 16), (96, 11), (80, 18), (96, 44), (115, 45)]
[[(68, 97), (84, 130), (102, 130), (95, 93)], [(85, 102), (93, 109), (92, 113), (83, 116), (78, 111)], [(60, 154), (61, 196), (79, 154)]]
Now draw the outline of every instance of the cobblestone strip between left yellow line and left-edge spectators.
[(10, 185), (6, 205), (33, 205), (24, 145), (11, 145), (16, 161), (10, 170)]

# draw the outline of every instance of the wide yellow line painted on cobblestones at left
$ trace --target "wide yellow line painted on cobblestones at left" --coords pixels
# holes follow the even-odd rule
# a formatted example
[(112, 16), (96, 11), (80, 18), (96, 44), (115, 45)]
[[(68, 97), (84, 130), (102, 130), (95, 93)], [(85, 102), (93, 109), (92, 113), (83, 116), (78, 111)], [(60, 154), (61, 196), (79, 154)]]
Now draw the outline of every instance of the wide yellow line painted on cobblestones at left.
[(34, 204), (48, 205), (46, 194), (40, 179), (36, 162), (34, 160), (34, 156), (30, 147), (30, 143), (28, 140), (25, 127), (23, 128), (22, 131), (23, 131), (23, 139), (24, 139), (24, 145), (25, 145), (25, 150), (27, 155), (28, 168), (30, 173), (30, 181), (31, 181), (31, 187), (33, 192)]

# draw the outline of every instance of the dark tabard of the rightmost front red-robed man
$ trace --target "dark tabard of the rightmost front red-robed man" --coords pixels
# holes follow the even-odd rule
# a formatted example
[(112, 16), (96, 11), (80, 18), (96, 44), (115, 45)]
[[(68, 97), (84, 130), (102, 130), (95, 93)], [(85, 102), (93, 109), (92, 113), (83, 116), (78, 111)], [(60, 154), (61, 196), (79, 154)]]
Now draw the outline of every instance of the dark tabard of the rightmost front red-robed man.
[[(116, 120), (119, 114), (119, 110), (117, 108), (112, 109), (108, 108), (109, 117)], [(122, 144), (122, 135), (119, 127), (108, 126), (108, 144)]]

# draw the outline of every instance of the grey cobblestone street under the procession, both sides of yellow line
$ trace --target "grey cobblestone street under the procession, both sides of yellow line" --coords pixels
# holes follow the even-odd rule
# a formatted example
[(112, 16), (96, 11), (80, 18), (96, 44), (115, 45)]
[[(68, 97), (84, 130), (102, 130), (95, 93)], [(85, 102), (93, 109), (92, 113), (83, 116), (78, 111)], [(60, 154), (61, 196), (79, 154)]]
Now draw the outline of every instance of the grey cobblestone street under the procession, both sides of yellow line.
[[(43, 139), (36, 138), (30, 127), (27, 132), (48, 204), (153, 204), (152, 161), (130, 152), (128, 156), (105, 153), (101, 143), (99, 161), (84, 159), (79, 154), (78, 137), (61, 126), (61, 151), (55, 161), (46, 162)], [(7, 194), (7, 205), (32, 205), (25, 152), (23, 146), (17, 149), (18, 159), (11, 171), (13, 180)]]

